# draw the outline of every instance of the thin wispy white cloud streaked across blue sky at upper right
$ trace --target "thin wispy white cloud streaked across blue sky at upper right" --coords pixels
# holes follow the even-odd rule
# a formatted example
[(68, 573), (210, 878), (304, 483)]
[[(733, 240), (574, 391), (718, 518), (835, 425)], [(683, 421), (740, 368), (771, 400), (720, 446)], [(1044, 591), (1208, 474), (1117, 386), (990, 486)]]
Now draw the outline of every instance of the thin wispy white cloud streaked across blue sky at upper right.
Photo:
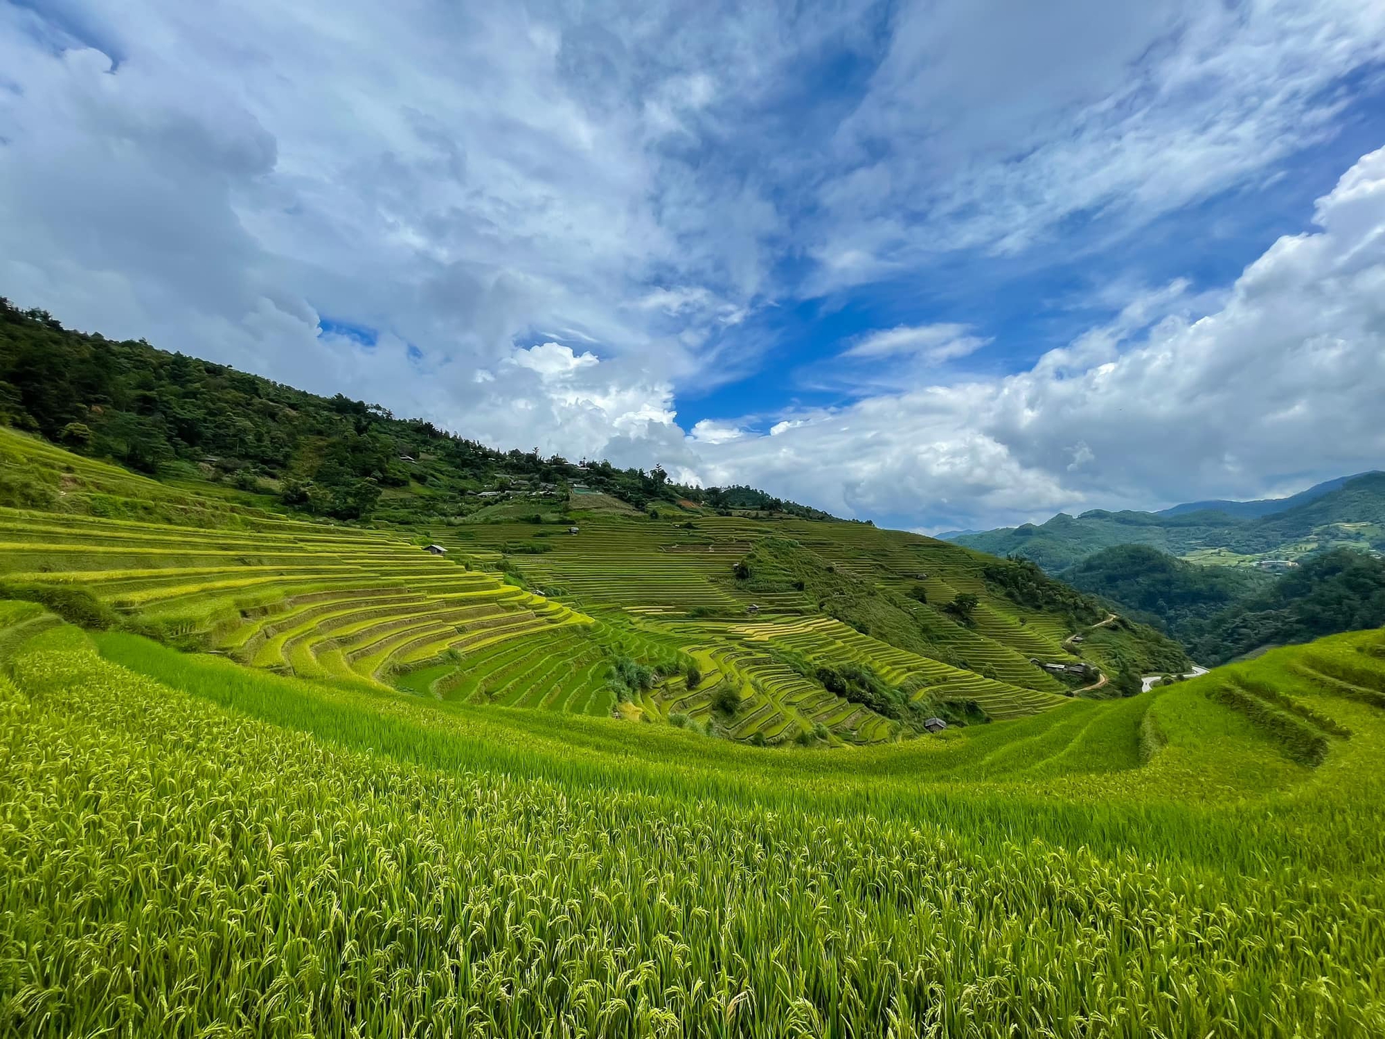
[(834, 137), (812, 285), (899, 277), (954, 249), (1019, 254), (1079, 215), (1129, 234), (1263, 186), (1335, 133), (1349, 96), (1334, 85), (1382, 60), (1373, 0), (906, 6)]

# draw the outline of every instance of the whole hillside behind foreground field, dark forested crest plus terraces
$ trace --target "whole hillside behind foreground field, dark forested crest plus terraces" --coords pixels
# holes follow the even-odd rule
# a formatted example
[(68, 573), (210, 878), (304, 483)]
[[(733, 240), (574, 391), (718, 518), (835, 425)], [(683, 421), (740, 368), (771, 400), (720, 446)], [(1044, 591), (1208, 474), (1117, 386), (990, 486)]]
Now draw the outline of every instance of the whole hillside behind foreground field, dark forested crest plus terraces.
[[(0, 378), (10, 421), (65, 445), (0, 432), (11, 594), (260, 668), (841, 744), (1186, 665), (1138, 625), (1065, 643), (1105, 611), (943, 542), (494, 452), (40, 313), (0, 308)], [(795, 575), (744, 576), (766, 554)]]

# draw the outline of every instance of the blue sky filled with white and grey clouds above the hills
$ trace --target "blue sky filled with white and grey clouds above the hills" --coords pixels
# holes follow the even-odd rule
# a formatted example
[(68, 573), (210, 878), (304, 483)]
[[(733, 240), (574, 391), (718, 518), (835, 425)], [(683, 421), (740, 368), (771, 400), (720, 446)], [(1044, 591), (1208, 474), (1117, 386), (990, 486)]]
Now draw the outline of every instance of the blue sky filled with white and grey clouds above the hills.
[(1385, 467), (1379, 0), (0, 0), (0, 295), (936, 532)]

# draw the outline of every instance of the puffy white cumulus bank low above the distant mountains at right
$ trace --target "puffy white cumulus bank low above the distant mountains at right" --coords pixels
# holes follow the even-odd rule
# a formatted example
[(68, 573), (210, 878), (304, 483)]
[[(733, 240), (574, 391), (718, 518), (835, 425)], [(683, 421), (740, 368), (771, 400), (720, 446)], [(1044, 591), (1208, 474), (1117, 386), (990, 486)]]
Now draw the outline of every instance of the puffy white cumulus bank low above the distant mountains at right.
[(1252, 497), (1381, 467), (1385, 150), (1319, 199), (1314, 223), (1201, 316), (1145, 327), (1174, 285), (1030, 370), (801, 414), (698, 453), (713, 479), (931, 529)]

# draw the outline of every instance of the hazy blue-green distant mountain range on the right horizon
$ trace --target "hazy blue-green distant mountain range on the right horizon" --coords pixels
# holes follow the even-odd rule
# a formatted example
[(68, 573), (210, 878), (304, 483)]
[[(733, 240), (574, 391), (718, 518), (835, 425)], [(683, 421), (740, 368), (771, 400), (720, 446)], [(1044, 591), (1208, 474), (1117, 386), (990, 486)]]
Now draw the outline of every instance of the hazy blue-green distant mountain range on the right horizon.
[(1337, 547), (1385, 550), (1385, 472), (1328, 481), (1280, 501), (1294, 503), (1255, 517), (1192, 510), (1198, 503), (1190, 503), (1191, 511), (1093, 510), (1078, 517), (1060, 513), (1044, 524), (956, 535), (949, 540), (994, 556), (1024, 556), (1050, 574), (1118, 544), (1145, 544), (1192, 562), (1245, 567), (1262, 560), (1294, 561)]

